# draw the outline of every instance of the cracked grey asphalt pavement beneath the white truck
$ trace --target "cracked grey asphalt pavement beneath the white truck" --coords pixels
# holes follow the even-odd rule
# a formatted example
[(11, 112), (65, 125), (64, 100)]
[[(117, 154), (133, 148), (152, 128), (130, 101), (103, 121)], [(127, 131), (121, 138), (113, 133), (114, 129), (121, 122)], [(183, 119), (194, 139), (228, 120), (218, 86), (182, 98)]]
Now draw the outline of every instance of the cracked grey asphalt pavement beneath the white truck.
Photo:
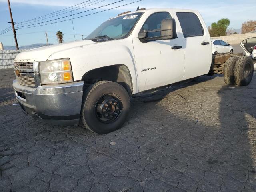
[(132, 98), (106, 135), (22, 113), (13, 70), (0, 70), (0, 191), (256, 191), (256, 77), (202, 76)]

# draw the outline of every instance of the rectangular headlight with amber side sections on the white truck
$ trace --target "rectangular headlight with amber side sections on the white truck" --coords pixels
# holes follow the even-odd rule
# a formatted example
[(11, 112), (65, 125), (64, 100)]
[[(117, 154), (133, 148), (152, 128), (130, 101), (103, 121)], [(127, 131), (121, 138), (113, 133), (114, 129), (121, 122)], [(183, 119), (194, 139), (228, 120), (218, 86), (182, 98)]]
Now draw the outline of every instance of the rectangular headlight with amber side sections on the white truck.
[(40, 62), (41, 84), (68, 83), (73, 81), (69, 59)]

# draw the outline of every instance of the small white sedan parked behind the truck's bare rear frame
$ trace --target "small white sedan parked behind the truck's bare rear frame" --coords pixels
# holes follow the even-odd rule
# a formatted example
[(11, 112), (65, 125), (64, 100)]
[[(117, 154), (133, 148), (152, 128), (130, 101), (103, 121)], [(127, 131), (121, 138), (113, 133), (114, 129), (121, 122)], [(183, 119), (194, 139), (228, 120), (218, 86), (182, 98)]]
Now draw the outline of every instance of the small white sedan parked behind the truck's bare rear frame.
[(233, 53), (234, 49), (230, 44), (227, 44), (226, 42), (216, 39), (212, 40), (212, 54), (217, 54), (217, 53), (226, 53), (230, 52)]

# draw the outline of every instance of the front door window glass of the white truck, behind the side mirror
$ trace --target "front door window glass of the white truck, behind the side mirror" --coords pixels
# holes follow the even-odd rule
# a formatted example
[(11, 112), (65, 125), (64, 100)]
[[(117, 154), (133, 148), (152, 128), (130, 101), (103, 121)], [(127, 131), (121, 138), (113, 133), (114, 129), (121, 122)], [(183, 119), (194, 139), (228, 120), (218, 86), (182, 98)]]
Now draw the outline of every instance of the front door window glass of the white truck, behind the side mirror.
[[(171, 15), (168, 12), (158, 12), (150, 15), (141, 30), (153, 30), (161, 28), (161, 21), (163, 19), (170, 19)], [(161, 32), (148, 32), (148, 37), (161, 36)]]

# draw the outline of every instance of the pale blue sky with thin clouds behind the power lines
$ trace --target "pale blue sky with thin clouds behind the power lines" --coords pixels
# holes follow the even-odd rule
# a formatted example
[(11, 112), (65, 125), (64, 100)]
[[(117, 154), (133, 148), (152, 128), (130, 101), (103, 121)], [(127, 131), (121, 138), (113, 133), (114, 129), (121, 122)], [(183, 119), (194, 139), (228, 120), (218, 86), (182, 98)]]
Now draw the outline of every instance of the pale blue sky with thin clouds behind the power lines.
[[(12, 15), (14, 18), (14, 22), (23, 22), (26, 20), (30, 20), (32, 18), (40, 17), (45, 14), (49, 14), (54, 11), (58, 11), (69, 6), (73, 6), (75, 4), (84, 2), (86, 0), (10, 0), (12, 7)], [(91, 2), (95, 0), (90, 0)], [(118, 0), (104, 0), (103, 2), (99, 2), (97, 4), (88, 6), (86, 8), (82, 8), (80, 10), (73, 11), (73, 14), (81, 11), (85, 11), (91, 8), (96, 8), (98, 6), (102, 6), (105, 4), (109, 4), (112, 2), (116, 2)], [(106, 8), (112, 8), (115, 6), (120, 6), (122, 4), (127, 4), (129, 2), (133, 2), (136, 0), (124, 0), (123, 2), (119, 2), (117, 4), (113, 4), (110, 6), (106, 6), (104, 8), (99, 8), (96, 10), (88, 11), (80, 15), (90, 14), (93, 12), (97, 12), (100, 10), (104, 10)], [(87, 5), (89, 2), (85, 3)], [(92, 3), (91, 3), (92, 4)], [(230, 19), (230, 28), (239, 29), (241, 27), (242, 22), (247, 20), (255, 20), (255, 10), (256, 4), (255, 0), (143, 0), (141, 2), (137, 2), (134, 4), (130, 4), (124, 7), (120, 7), (114, 10), (108, 10), (106, 12), (94, 14), (91, 16), (86, 16), (78, 19), (74, 19), (74, 32), (76, 34), (76, 40), (81, 39), (80, 35), (84, 35), (84, 37), (92, 30), (94, 30), (98, 25), (107, 20), (110, 17), (116, 16), (120, 12), (124, 12), (127, 10), (136, 10), (137, 6), (145, 7), (145, 8), (188, 8), (188, 9), (196, 9), (199, 10), (202, 14), (207, 26), (209, 26), (212, 22), (216, 22), (221, 18), (229, 18)], [(66, 16), (69, 15), (70, 12), (60, 15)], [(10, 24), (10, 14), (8, 11), (7, 0), (0, 0), (0, 31), (8, 28)], [(68, 17), (70, 18), (70, 17)], [(53, 19), (53, 18), (49, 18)], [(66, 19), (66, 18), (64, 18)], [(42, 22), (41, 20), (39, 22)], [(58, 21), (58, 20), (57, 20)], [(34, 24), (34, 23), (29, 23)], [(18, 25), (18, 24), (17, 24)], [(29, 45), (34, 43), (45, 43), (46, 37), (44, 32), (48, 33), (48, 41), (50, 43), (57, 43), (55, 33), (56, 31), (62, 31), (64, 33), (64, 41), (72, 41), (74, 40), (72, 21), (60, 22), (57, 24), (51, 24), (46, 26), (34, 27), (34, 28), (26, 28), (19, 29), (17, 31), (17, 39), (19, 46)], [(12, 30), (1, 35), (0, 41), (4, 45), (15, 45)]]

